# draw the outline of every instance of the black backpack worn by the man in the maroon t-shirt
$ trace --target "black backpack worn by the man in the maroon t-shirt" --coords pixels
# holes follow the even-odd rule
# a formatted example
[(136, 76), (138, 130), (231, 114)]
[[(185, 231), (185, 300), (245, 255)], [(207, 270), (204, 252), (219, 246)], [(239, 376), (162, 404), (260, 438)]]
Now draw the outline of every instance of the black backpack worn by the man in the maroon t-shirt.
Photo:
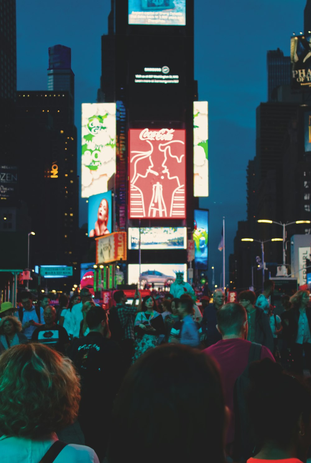
[(236, 379), (233, 390), (233, 410), (235, 420), (233, 459), (236, 462), (246, 462), (253, 456), (255, 438), (251, 431), (251, 423), (246, 405), (246, 394), (250, 385), (249, 364), (260, 360), (261, 344), (252, 343), (249, 350), (249, 363)]

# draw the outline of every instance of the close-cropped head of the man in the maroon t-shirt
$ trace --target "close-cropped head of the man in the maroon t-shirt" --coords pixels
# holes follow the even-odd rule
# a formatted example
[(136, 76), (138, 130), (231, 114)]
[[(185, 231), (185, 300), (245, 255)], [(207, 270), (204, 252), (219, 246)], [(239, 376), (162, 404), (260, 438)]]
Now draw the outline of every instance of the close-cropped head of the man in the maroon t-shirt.
[(228, 302), (221, 307), (217, 313), (218, 331), (223, 337), (235, 336), (236, 338), (247, 338), (247, 313), (241, 304)]

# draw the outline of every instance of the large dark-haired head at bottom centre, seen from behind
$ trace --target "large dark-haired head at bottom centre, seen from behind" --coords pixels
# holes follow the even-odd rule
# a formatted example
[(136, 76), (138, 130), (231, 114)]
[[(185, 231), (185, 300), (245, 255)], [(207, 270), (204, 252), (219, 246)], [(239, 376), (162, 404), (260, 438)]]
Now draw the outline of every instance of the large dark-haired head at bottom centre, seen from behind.
[[(180, 344), (150, 349), (125, 376), (114, 405), (109, 463), (224, 463), (226, 412), (211, 357)], [(169, 432), (163, 423), (169, 423)], [(122, 445), (120, 445), (122, 436)], [(203, 443), (200, 445), (200, 443)]]

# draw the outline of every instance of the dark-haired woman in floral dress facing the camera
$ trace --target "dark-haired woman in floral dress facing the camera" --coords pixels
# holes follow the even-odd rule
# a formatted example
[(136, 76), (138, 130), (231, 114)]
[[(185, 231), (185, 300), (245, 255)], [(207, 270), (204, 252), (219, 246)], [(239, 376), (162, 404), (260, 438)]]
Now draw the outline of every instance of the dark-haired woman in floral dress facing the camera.
[(156, 347), (159, 344), (159, 335), (165, 333), (163, 318), (156, 311), (152, 296), (143, 298), (142, 311), (136, 315), (134, 332), (136, 342), (133, 363), (146, 350)]

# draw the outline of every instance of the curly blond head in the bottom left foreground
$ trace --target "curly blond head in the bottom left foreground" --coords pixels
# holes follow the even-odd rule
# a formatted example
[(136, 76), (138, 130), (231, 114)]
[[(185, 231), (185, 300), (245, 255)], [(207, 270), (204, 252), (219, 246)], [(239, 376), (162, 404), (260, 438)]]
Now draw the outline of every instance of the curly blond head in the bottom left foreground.
[(80, 384), (71, 361), (44, 344), (20, 344), (0, 355), (0, 429), (42, 438), (77, 419)]

